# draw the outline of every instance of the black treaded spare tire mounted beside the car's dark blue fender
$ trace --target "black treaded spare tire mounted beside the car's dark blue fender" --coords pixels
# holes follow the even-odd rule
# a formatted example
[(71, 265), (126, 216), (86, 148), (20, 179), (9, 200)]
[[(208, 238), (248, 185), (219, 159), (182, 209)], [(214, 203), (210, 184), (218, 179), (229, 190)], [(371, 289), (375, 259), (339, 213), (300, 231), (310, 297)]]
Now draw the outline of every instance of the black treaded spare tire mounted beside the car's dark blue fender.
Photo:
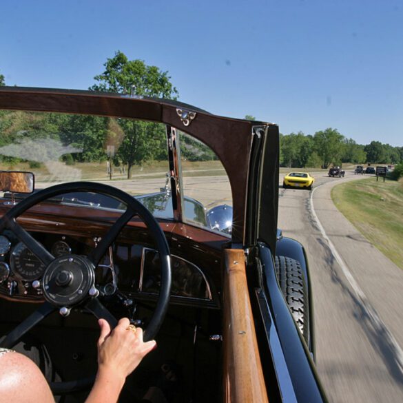
[(309, 346), (309, 299), (300, 262), (287, 256), (276, 256), (274, 262), (280, 289), (298, 329)]

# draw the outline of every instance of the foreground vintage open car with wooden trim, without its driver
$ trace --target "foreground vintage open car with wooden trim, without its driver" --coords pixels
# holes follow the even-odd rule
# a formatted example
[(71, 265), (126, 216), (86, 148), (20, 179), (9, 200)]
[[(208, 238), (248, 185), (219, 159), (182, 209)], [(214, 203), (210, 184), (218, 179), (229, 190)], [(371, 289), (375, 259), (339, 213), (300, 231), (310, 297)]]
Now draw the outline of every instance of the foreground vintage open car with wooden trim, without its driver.
[(169, 402), (327, 401), (304, 247), (277, 228), (277, 125), (0, 87), (0, 129), (0, 347), (33, 345), (57, 401), (85, 400), (96, 318), (122, 317), (158, 349), (121, 403), (167, 362)]

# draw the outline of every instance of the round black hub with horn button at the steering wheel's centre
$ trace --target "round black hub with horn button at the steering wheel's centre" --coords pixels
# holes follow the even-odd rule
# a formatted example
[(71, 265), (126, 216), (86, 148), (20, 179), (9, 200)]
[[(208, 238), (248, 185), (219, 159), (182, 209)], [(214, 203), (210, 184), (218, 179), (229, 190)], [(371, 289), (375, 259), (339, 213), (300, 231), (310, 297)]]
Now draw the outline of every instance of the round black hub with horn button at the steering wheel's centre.
[(43, 275), (43, 296), (51, 304), (71, 307), (88, 296), (94, 286), (94, 265), (84, 256), (56, 258)]

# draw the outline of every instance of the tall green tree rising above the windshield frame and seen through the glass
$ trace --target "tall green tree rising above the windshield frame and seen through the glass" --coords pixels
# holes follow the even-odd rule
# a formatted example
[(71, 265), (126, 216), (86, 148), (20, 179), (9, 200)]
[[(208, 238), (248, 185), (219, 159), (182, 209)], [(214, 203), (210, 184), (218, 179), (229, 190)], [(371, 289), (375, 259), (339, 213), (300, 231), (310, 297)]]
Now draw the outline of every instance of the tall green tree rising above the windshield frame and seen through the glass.
[[(178, 91), (169, 81), (167, 72), (142, 60), (127, 59), (123, 52), (115, 52), (104, 64), (105, 71), (94, 77), (96, 84), (90, 90), (101, 92), (130, 92), (134, 87), (137, 96), (176, 99)], [(161, 145), (166, 143), (163, 125), (139, 121), (119, 120), (125, 138), (117, 149), (118, 161), (127, 164), (127, 178), (132, 177), (134, 164), (141, 165), (150, 159), (162, 157)]]

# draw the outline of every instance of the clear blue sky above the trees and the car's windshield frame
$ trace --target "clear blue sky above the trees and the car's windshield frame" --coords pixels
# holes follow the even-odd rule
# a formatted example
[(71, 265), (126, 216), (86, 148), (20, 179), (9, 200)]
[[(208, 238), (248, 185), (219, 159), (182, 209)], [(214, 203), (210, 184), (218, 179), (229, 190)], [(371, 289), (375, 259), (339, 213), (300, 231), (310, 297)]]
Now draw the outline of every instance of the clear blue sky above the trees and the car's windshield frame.
[(214, 114), (403, 146), (403, 1), (0, 1), (7, 85), (87, 89), (121, 50)]

